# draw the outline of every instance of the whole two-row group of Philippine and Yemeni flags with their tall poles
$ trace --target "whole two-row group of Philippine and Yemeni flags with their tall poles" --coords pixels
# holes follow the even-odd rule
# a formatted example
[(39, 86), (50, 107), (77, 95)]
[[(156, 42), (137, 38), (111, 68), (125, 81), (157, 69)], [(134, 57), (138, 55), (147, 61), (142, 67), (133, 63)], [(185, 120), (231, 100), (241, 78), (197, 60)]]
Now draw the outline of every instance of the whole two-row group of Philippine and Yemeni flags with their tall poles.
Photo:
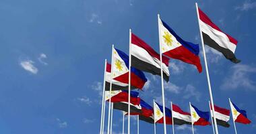
[[(203, 44), (210, 100), (211, 105), (214, 105), (210, 77), (207, 70), (207, 62), (204, 52), (204, 44), (218, 50), (231, 62), (239, 63), (241, 60), (238, 60), (234, 55), (237, 44), (237, 41), (234, 38), (224, 33), (222, 29), (212, 22), (210, 17), (207, 17), (207, 15), (199, 9), (199, 7), (197, 7), (197, 17)], [(212, 117), (214, 118), (212, 124), (215, 122), (214, 125), (217, 134), (218, 129), (216, 123), (224, 127), (229, 127), (228, 121), (230, 118), (230, 111), (228, 109), (217, 107), (216, 105), (214, 105), (214, 107), (210, 107), (211, 112), (203, 112), (190, 104), (190, 113), (183, 111), (177, 105), (171, 105), (171, 110), (165, 107), (163, 80), (168, 82), (170, 79), (170, 72), (168, 70), (169, 58), (181, 60), (187, 64), (192, 64), (197, 68), (199, 73), (202, 72), (203, 68), (199, 58), (199, 44), (193, 44), (183, 40), (165, 21), (160, 19), (159, 15), (158, 30), (160, 54), (158, 54), (158, 52), (156, 52), (141, 38), (132, 33), (131, 29), (129, 33), (129, 56), (125, 54), (125, 52), (122, 52), (113, 46), (111, 64), (108, 64), (107, 62), (105, 63), (104, 100), (108, 100), (113, 103), (113, 109), (125, 111), (127, 114), (129, 113), (129, 115), (138, 115), (139, 119), (142, 121), (146, 121), (148, 123), (164, 123), (165, 134), (166, 124), (192, 124), (193, 128), (193, 125), (210, 125), (211, 123), (209, 122), (209, 119)], [(151, 107), (148, 103), (139, 98), (138, 92), (131, 91), (136, 88), (142, 90), (143, 86), (148, 81), (143, 72), (149, 72), (150, 74), (161, 76), (162, 106), (154, 102), (154, 106)], [(232, 109), (232, 117), (235, 122), (245, 124), (251, 123), (251, 121), (247, 119), (246, 112), (238, 109), (238, 107), (236, 107), (234, 103), (231, 103), (231, 101), (230, 107)], [(109, 119), (110, 105), (108, 107), (108, 125)], [(102, 129), (101, 132), (103, 132)]]

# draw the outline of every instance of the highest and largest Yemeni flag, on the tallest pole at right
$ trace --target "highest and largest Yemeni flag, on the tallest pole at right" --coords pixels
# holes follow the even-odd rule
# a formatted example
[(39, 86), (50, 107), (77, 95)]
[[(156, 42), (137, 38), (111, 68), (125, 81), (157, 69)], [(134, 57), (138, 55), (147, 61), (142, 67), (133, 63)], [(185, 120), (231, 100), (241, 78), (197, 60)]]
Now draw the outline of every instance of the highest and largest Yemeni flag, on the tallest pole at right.
[(224, 33), (201, 9), (198, 8), (198, 12), (203, 42), (221, 52), (228, 60), (234, 63), (241, 62), (234, 56), (237, 41)]

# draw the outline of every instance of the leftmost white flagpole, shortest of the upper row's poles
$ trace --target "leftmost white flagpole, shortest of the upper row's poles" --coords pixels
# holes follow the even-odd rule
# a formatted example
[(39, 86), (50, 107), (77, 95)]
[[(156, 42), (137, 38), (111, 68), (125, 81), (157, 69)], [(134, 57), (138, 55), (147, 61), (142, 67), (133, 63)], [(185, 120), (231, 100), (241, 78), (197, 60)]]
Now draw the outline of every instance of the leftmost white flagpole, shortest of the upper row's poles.
[(102, 89), (102, 107), (101, 107), (101, 119), (100, 119), (100, 133), (102, 134), (102, 130), (104, 130), (103, 127), (103, 119), (104, 119), (104, 105), (105, 105), (105, 81), (106, 80), (106, 59), (105, 59), (105, 68), (104, 68), (104, 81), (103, 81), (103, 89)]

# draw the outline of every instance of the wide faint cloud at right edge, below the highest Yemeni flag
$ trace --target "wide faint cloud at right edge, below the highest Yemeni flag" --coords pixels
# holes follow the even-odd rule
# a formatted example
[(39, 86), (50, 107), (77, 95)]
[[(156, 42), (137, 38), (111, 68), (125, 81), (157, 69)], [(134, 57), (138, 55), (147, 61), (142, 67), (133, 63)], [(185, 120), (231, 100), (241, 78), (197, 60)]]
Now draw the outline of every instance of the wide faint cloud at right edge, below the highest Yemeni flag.
[(255, 80), (251, 80), (251, 74), (256, 73), (256, 68), (245, 64), (236, 64), (231, 67), (230, 75), (224, 78), (220, 86), (225, 90), (234, 90), (238, 87), (246, 88), (248, 90), (256, 90)]

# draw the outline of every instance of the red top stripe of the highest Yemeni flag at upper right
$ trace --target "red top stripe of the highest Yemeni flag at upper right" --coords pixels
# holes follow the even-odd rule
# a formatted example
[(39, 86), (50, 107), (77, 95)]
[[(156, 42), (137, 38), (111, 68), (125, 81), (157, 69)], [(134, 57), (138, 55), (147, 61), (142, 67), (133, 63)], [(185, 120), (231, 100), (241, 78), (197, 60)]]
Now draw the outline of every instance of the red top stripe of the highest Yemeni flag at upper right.
[[(199, 11), (199, 18), (201, 19), (201, 21), (203, 21), (204, 23), (207, 23), (207, 25), (210, 25), (212, 28), (224, 33), (217, 25), (215, 25), (212, 20), (205, 14), (203, 13), (203, 11), (201, 11), (201, 9), (198, 7), (198, 11)], [(226, 36), (228, 36), (228, 39), (230, 42), (232, 42), (233, 44), (237, 44), (237, 40), (232, 38), (231, 36), (229, 36), (228, 34), (226, 34)]]

